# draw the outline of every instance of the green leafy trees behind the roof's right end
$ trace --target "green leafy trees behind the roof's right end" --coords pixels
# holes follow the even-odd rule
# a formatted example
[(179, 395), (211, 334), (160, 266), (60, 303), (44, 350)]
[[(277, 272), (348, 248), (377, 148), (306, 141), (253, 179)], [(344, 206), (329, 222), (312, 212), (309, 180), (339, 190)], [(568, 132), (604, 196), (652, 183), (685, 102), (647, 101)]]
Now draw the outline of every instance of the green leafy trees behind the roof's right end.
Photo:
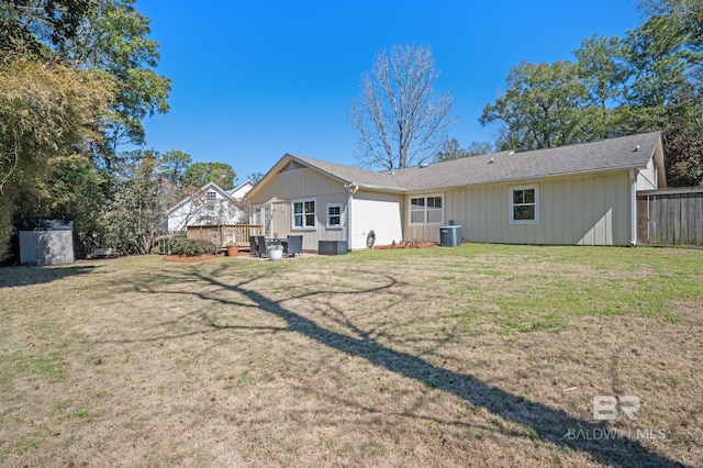
[(584, 40), (576, 62), (523, 63), (487, 104), (500, 122), (496, 146), (527, 151), (662, 131), (670, 185), (701, 185), (703, 7), (651, 0), (654, 11), (625, 37)]

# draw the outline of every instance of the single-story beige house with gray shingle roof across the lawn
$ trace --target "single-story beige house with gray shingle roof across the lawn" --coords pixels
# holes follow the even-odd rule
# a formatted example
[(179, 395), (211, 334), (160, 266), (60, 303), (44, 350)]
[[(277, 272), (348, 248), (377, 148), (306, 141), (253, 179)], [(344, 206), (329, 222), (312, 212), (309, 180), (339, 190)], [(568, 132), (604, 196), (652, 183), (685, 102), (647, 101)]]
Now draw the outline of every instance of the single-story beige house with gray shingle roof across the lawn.
[(377, 172), (284, 155), (247, 193), (267, 235), (376, 244), (439, 241), (634, 245), (636, 192), (666, 187), (658, 132)]

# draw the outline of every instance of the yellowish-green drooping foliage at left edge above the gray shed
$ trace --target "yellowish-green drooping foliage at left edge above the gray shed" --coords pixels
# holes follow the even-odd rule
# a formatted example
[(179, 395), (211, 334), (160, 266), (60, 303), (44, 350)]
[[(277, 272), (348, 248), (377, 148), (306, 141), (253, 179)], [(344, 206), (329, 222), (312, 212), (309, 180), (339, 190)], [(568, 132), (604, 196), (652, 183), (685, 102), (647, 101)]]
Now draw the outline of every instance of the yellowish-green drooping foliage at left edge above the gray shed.
[(111, 96), (111, 81), (92, 70), (40, 62), (23, 51), (0, 59), (0, 256), (18, 202), (43, 199), (51, 159), (100, 141), (98, 124)]

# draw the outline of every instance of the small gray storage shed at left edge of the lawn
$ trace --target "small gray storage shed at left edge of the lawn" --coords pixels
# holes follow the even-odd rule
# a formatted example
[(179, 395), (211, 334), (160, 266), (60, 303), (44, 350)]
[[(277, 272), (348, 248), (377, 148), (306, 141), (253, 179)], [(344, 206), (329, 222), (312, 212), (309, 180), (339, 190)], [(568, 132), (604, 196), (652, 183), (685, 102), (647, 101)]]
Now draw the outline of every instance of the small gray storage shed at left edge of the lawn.
[(25, 220), (18, 229), (20, 264), (72, 264), (74, 222), (64, 220)]

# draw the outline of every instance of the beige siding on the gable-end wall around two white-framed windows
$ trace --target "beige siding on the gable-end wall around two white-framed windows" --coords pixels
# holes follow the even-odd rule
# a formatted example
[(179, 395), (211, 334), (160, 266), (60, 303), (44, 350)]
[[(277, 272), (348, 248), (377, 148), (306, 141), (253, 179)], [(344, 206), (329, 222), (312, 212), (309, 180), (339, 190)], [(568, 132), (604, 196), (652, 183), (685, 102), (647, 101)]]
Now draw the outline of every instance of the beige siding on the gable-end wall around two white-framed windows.
[[(302, 166), (287, 165), (254, 197), (252, 208), (270, 207), (271, 234), (303, 236), (304, 250), (317, 250), (319, 241), (347, 239), (347, 197), (342, 182)], [(293, 229), (293, 200), (315, 200), (315, 230)], [(342, 203), (342, 229), (327, 229), (327, 203)]]

